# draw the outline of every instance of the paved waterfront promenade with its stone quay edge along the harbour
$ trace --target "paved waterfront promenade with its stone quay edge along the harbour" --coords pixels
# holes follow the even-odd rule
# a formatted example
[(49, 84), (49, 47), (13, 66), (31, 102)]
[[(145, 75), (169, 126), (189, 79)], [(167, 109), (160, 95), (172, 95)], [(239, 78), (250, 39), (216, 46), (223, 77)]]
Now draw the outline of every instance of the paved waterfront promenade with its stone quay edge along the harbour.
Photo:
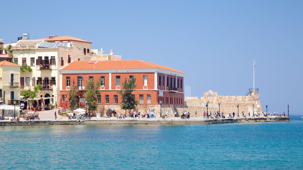
[[(57, 115), (55, 120), (55, 111), (58, 110), (47, 110), (39, 112), (40, 120), (26, 121), (20, 118), (19, 122), (13, 122), (11, 120), (1, 120), (1, 125), (35, 125), (35, 124), (51, 124), (51, 125), (67, 125), (67, 124), (218, 124), (218, 123), (245, 123), (245, 122), (271, 122), (271, 121), (289, 121), (289, 117), (248, 117), (244, 118), (225, 118), (225, 119), (208, 119), (203, 116), (190, 117), (190, 119), (181, 119), (181, 117), (168, 117), (165, 119), (157, 118), (130, 118), (117, 119), (116, 117), (92, 117), (91, 120), (68, 120), (67, 117)], [(60, 119), (61, 118), (61, 119)]]

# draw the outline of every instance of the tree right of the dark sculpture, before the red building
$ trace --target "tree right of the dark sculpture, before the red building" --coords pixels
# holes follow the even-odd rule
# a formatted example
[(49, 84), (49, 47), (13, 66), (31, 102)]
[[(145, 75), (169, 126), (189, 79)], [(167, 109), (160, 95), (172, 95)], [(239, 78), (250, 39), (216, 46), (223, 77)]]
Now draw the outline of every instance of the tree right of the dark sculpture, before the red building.
[(136, 78), (131, 78), (127, 82), (127, 79), (125, 77), (125, 81), (122, 83), (122, 87), (123, 89), (117, 91), (117, 93), (122, 98), (121, 109), (125, 110), (125, 116), (126, 116), (126, 111), (128, 109), (135, 109), (136, 106), (138, 105), (138, 102), (134, 98), (132, 98), (132, 92), (137, 87)]

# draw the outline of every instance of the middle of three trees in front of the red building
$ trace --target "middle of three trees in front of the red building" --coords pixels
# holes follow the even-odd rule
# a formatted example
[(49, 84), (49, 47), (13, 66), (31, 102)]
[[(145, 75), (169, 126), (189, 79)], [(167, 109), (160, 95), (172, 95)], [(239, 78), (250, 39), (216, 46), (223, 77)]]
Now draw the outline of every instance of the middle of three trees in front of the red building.
[(84, 93), (85, 100), (87, 101), (88, 105), (88, 113), (90, 110), (96, 111), (97, 110), (97, 95), (100, 94), (99, 87), (101, 85), (101, 77), (97, 80), (95, 84), (95, 80), (85, 81), (86, 85), (86, 92)]

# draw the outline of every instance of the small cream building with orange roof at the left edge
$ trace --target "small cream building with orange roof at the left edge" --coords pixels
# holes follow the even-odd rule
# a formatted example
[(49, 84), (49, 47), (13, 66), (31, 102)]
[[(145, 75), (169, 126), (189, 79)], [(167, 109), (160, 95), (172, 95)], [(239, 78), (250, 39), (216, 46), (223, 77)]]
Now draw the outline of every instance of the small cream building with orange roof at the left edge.
[(0, 62), (0, 102), (14, 104), (20, 100), (20, 66), (9, 61)]

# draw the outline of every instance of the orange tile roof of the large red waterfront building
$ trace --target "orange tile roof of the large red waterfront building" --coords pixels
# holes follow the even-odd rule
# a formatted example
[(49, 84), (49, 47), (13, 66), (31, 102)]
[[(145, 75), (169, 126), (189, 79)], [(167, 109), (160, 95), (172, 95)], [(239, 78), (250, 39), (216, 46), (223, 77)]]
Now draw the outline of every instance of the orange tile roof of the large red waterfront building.
[[(102, 70), (102, 69), (163, 69), (185, 74), (181, 71), (172, 69), (170, 67), (161, 66), (155, 63), (145, 62), (141, 60), (111, 60), (98, 61), (97, 63), (90, 61), (73, 61), (61, 70)], [(76, 69), (75, 69), (76, 68)]]

